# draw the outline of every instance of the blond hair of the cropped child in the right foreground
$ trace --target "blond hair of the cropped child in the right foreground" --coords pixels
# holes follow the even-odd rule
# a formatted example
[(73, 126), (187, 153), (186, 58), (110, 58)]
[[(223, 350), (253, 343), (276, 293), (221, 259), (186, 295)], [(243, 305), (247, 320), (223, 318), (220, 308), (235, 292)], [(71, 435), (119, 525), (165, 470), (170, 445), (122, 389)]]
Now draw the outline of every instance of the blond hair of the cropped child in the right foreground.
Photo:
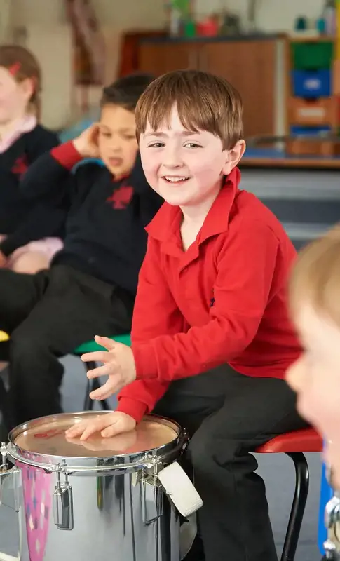
[(340, 227), (302, 250), (290, 278), (290, 306), (295, 316), (301, 302), (325, 313), (340, 327)]

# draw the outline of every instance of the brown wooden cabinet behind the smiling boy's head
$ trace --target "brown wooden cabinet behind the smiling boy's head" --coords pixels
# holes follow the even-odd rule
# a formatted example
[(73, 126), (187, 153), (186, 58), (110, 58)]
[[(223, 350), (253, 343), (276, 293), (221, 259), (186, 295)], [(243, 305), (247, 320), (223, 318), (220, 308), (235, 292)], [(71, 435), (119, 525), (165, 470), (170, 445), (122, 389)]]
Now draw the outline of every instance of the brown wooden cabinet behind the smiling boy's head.
[(243, 98), (245, 136), (285, 134), (284, 39), (145, 41), (140, 71), (200, 69), (223, 76)]

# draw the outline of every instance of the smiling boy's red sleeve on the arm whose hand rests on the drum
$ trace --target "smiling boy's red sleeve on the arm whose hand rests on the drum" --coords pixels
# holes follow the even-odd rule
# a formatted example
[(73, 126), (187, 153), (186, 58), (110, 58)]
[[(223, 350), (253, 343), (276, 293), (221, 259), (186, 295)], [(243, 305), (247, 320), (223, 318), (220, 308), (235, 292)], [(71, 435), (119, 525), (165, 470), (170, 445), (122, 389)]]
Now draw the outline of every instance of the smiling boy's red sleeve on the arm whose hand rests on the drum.
[[(147, 254), (140, 269), (137, 297), (132, 318), (132, 351), (159, 335), (173, 335), (189, 328), (168, 288), (159, 266), (158, 242), (149, 238)], [(139, 422), (151, 412), (167, 391), (170, 381), (136, 380), (118, 394), (117, 411)]]

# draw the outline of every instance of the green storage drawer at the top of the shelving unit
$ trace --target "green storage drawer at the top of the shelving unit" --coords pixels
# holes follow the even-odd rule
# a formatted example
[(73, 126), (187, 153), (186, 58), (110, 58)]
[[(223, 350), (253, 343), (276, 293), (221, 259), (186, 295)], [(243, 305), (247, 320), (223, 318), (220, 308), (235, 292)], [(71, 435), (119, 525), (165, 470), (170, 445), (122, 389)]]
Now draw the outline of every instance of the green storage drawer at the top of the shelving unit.
[(320, 70), (332, 66), (333, 41), (306, 41), (291, 43), (292, 64), (296, 70)]

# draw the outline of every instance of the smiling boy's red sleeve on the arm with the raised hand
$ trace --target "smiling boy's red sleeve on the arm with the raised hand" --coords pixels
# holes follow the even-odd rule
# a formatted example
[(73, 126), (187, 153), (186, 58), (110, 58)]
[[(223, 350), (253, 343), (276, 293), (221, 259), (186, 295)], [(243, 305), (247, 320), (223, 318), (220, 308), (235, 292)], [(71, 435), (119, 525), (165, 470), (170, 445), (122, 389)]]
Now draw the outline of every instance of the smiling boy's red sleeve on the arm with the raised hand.
[[(161, 334), (160, 329), (154, 339), (136, 343), (137, 379), (170, 382), (200, 374), (229, 362), (254, 339), (271, 295), (279, 242), (268, 224), (240, 221), (230, 225), (219, 252), (210, 320), (176, 334)], [(158, 290), (159, 283), (152, 290), (151, 285), (144, 285), (143, 298), (152, 302), (152, 292)], [(154, 318), (174, 313), (169, 306), (162, 309), (161, 300), (158, 304)]]

